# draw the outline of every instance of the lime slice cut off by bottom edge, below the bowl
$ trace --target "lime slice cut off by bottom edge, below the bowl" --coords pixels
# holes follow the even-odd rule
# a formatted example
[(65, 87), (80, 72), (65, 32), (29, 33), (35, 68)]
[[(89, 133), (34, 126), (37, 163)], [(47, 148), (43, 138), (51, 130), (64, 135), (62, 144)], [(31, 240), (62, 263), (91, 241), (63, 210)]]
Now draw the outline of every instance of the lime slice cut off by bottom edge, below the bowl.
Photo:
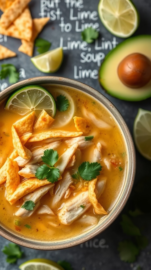
[(56, 262), (47, 259), (33, 259), (19, 266), (21, 270), (64, 270)]

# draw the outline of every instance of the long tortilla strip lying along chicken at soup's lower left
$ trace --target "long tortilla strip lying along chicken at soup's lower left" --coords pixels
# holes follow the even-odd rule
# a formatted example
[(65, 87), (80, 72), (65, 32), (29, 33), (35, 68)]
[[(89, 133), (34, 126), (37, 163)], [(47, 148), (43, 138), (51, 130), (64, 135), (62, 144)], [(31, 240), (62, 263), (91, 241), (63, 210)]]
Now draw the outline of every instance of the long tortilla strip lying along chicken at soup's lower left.
[[(34, 191), (38, 187), (50, 184), (47, 180), (39, 180), (36, 177), (31, 177), (22, 182), (19, 187), (16, 188), (12, 196), (9, 197), (9, 203), (12, 205), (24, 195)], [(52, 184), (53, 186), (54, 184)]]

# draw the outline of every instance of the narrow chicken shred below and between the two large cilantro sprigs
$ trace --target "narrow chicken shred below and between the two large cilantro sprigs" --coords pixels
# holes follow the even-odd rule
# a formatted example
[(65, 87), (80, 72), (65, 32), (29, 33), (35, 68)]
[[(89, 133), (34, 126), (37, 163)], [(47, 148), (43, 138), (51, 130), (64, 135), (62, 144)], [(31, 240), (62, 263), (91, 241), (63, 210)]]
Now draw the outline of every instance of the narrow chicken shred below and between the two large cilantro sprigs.
[(63, 179), (58, 181), (55, 185), (54, 196), (51, 201), (51, 207), (54, 208), (57, 203), (63, 198), (66, 191), (73, 183), (73, 178), (70, 176), (70, 173), (67, 171)]

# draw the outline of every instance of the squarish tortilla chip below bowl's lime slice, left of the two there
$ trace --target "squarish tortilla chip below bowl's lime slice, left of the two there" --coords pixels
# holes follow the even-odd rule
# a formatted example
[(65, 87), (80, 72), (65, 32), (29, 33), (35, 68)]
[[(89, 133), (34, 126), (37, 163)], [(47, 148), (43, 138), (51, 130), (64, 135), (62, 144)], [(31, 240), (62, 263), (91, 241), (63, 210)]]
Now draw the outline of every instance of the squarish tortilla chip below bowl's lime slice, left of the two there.
[(25, 133), (32, 132), (34, 117), (35, 112), (31, 112), (13, 124), (19, 137)]

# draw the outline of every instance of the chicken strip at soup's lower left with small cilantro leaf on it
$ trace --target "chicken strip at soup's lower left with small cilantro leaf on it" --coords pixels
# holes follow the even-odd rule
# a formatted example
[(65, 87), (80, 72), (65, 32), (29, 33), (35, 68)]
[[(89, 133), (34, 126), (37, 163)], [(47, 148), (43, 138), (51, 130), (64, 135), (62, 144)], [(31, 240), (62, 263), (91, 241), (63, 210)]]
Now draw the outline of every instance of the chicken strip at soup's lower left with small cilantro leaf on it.
[[(35, 210), (37, 209), (37, 207), (39, 206), (39, 200), (42, 198), (42, 196), (44, 196), (48, 192), (48, 190), (53, 185), (54, 184), (48, 184), (46, 186), (39, 187), (35, 191), (30, 192), (27, 195), (25, 195), (23, 197), (24, 203), (26, 201), (33, 201), (35, 203), (35, 207), (34, 207), (33, 210), (26, 210), (25, 208), (19, 207), (19, 209), (17, 210), (17, 212), (15, 213), (15, 215), (17, 217), (21, 217), (21, 218), (30, 217), (33, 214), (33, 212), (35, 212)], [(24, 203), (21, 206), (23, 206)]]

